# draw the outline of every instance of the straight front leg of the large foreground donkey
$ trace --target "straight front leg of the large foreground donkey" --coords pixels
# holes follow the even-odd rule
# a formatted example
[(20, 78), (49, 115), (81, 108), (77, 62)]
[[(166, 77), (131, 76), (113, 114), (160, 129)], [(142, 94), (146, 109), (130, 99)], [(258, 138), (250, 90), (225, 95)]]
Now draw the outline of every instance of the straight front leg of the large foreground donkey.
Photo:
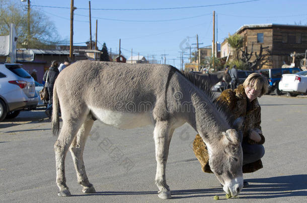
[(169, 154), (169, 145), (174, 130), (170, 129), (167, 121), (158, 121), (154, 130), (154, 139), (156, 146), (156, 185), (159, 188), (158, 196), (163, 199), (172, 198), (169, 185), (166, 183), (166, 163)]

